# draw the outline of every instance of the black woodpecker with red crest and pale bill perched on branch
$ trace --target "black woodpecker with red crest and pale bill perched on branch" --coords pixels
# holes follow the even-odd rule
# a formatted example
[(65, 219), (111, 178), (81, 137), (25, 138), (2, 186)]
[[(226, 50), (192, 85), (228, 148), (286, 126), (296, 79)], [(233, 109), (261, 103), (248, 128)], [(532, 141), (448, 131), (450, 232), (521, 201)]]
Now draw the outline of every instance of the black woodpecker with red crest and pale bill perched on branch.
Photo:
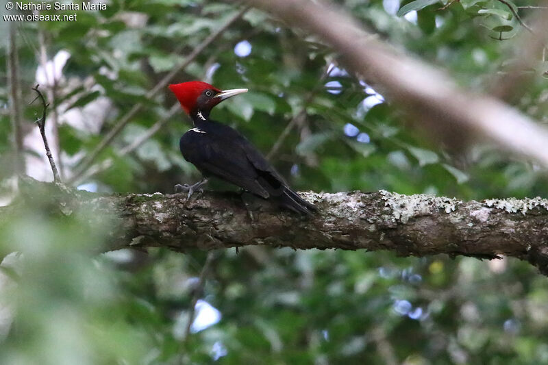
[(221, 101), (247, 92), (247, 89), (220, 90), (206, 82), (188, 81), (169, 88), (190, 116), (193, 127), (181, 137), (179, 149), (185, 160), (201, 172), (203, 179), (194, 185), (175, 186), (188, 191), (188, 197), (218, 177), (263, 199), (272, 199), (282, 207), (300, 214), (312, 214), (316, 207), (299, 197), (266, 158), (242, 134), (212, 121), (210, 112)]

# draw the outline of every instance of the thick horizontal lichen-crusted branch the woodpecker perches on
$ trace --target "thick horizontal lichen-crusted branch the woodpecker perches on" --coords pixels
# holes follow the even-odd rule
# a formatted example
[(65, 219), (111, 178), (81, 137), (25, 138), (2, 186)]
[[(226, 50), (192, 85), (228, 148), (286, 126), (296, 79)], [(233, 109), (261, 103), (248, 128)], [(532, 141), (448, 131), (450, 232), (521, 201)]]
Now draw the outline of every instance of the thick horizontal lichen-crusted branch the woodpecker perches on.
[[(294, 249), (389, 250), (401, 256), (446, 253), (478, 258), (508, 255), (548, 273), (548, 199), (460, 201), (424, 194), (301, 192), (319, 207), (299, 216), (240, 194), (102, 195), (25, 179), (22, 199), (0, 207), (0, 221), (21, 201), (48, 197), (52, 214), (87, 212), (104, 225), (106, 246), (175, 251), (263, 244)], [(32, 193), (25, 193), (27, 190)], [(51, 201), (55, 201), (53, 210)], [(34, 198), (36, 202), (36, 198)], [(36, 204), (36, 203), (35, 203)], [(97, 224), (90, 222), (90, 224)]]

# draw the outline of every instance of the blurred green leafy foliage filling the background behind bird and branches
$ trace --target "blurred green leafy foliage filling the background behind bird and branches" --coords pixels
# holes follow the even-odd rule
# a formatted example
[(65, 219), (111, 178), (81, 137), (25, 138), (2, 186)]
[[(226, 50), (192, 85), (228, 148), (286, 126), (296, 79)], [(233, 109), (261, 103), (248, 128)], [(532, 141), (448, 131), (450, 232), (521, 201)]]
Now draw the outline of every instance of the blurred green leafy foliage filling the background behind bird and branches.
[[(478, 92), (490, 92), (523, 44), (523, 27), (495, 0), (336, 3), (395, 47)], [(527, 8), (530, 1), (508, 3), (525, 21), (536, 11)], [(107, 10), (77, 11), (75, 22), (0, 22), (2, 34), (16, 41), (10, 49), (5, 36), (0, 53), (3, 204), (11, 201), (18, 167), (14, 105), (22, 112), (25, 170), (51, 180), (33, 123), (40, 106), (28, 105), (35, 84), (51, 103), (47, 131), (65, 181), (137, 103), (140, 111), (93, 161), (92, 168), (103, 168), (72, 184), (105, 193), (169, 193), (199, 178), (178, 149), (190, 121), (182, 112), (168, 114), (175, 98), (164, 85), (147, 93), (240, 5), (106, 4)], [(526, 70), (530, 83), (512, 103), (547, 123), (548, 67), (541, 60)], [(535, 164), (483, 141), (469, 149), (440, 146), (366, 80), (345, 71), (320, 39), (258, 10), (232, 23), (173, 82), (190, 79), (249, 88), (212, 116), (265, 154), (277, 144), (270, 160), (299, 190), (547, 196)], [(158, 133), (127, 151), (166, 116)], [(23, 214), (0, 221), (0, 364), (548, 364), (548, 284), (517, 260), (247, 247), (215, 253), (201, 281), (207, 253), (95, 255), (108, 219), (86, 212), (60, 219), (49, 194), (28, 194)]]

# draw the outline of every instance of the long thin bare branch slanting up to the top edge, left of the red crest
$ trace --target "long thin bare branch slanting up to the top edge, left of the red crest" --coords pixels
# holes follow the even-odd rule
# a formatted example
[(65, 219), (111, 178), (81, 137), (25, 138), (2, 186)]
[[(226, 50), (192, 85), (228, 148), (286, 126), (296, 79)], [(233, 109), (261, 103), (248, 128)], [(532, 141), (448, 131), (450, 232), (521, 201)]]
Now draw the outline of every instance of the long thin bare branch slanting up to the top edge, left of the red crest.
[[(181, 64), (179, 64), (179, 66), (176, 66), (175, 68), (173, 68), (173, 70), (170, 73), (168, 73), (166, 76), (164, 76), (164, 78), (162, 78), (158, 82), (158, 84), (156, 84), (151, 90), (149, 90), (149, 92), (147, 92), (147, 95), (145, 95), (145, 97), (147, 97), (147, 99), (152, 99), (153, 97), (155, 97), (155, 95), (157, 95), (158, 92), (162, 90), (162, 88), (166, 87), (169, 81), (171, 81), (171, 79), (175, 75), (177, 75), (177, 73), (179, 73), (184, 68), (186, 68), (186, 66), (192, 63), (192, 61), (194, 61), (204, 49), (209, 47), (214, 40), (219, 38), (219, 36), (221, 36), (221, 34), (223, 34), (230, 27), (230, 25), (232, 25), (232, 23), (234, 23), (239, 18), (241, 18), (243, 14), (247, 12), (247, 10), (249, 10), (249, 7), (243, 8), (236, 15), (232, 16), (232, 18), (229, 18), (227, 23), (225, 23), (216, 32), (214, 32), (208, 38), (206, 38), (206, 40), (204, 40), (198, 47), (196, 47), (192, 51), (192, 53), (190, 53), (190, 55), (188, 55), (188, 57), (183, 62), (181, 62)], [(129, 121), (131, 121), (132, 118), (136, 116), (138, 112), (140, 112), (140, 110), (142, 109), (142, 106), (143, 106), (142, 103), (137, 103), (136, 105), (134, 105), (134, 107), (131, 110), (129, 110), (129, 112), (127, 112), (124, 116), (122, 116), (122, 118), (120, 119), (118, 123), (116, 123), (114, 128), (112, 128), (110, 132), (108, 132), (108, 134), (101, 140), (101, 142), (97, 144), (97, 147), (95, 147), (95, 149), (93, 149), (90, 153), (88, 153), (88, 155), (86, 155), (84, 160), (82, 160), (82, 162), (79, 164), (77, 170), (75, 171), (71, 179), (69, 179), (68, 181), (69, 184), (73, 184), (73, 181), (76, 181), (77, 179), (79, 179), (79, 177), (81, 177), (82, 175), (84, 175), (84, 173), (86, 173), (86, 171), (88, 170), (88, 168), (90, 168), (90, 166), (95, 161), (97, 156), (99, 156), (99, 154), (106, 147), (108, 147), (108, 145), (112, 142), (112, 140), (114, 140), (114, 138), (116, 138), (116, 136), (120, 134), (123, 128), (127, 125), (127, 123), (129, 123)]]

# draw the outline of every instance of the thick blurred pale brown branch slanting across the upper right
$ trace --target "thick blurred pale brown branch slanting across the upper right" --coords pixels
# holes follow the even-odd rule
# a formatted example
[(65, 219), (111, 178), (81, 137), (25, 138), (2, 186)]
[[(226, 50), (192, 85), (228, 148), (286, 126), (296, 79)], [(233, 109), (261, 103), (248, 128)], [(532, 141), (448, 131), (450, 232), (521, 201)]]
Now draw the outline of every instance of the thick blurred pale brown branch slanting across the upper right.
[[(509, 105), (456, 86), (449, 75), (399, 53), (365, 32), (342, 10), (297, 0), (250, 0), (249, 3), (290, 25), (319, 36), (343, 55), (343, 63), (362, 75), (436, 131), (449, 144), (486, 138), (511, 153), (525, 155), (548, 168), (548, 130)], [(336, 24), (336, 27), (333, 25)]]

